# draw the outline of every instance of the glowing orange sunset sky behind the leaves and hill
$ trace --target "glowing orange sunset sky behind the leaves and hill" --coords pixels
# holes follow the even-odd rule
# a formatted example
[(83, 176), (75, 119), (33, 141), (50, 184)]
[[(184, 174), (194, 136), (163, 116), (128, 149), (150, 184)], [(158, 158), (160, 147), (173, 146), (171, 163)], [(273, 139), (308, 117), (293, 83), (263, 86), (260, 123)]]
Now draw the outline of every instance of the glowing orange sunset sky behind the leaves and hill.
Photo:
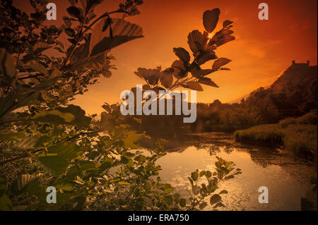
[[(18, 4), (24, 6), (25, 2)], [(57, 5), (57, 21), (52, 23), (61, 24), (69, 2), (50, 2)], [(105, 0), (95, 13), (117, 9), (118, 2)], [(269, 20), (258, 19), (258, 5), (262, 2), (269, 5)], [(126, 18), (141, 25), (145, 37), (113, 49), (117, 71), (113, 71), (111, 78), (100, 78), (100, 83), (90, 86), (88, 92), (72, 103), (93, 114), (103, 111), (100, 106), (104, 102), (121, 102), (122, 90), (143, 84), (134, 75), (137, 68), (170, 67), (177, 59), (173, 47), (191, 52), (187, 35), (192, 30), (204, 30), (202, 14), (212, 8), (220, 8), (221, 12), (216, 30), (223, 20), (232, 20), (236, 39), (216, 50), (218, 57), (232, 59), (226, 66), (231, 71), (208, 75), (220, 87), (204, 85), (204, 92), (197, 92), (198, 102), (214, 99), (231, 102), (257, 87), (270, 85), (294, 59), (317, 64), (317, 0), (145, 0), (139, 7), (141, 15)], [(211, 67), (212, 63), (206, 63), (205, 67)]]

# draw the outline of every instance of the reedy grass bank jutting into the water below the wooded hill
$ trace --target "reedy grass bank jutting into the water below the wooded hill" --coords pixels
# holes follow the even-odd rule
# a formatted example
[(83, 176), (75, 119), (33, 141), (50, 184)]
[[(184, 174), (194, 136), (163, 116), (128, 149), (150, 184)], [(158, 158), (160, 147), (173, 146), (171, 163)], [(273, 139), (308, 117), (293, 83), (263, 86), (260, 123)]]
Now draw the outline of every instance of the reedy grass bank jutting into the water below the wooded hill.
[(234, 136), (239, 142), (283, 148), (311, 162), (317, 162), (317, 111), (298, 118), (285, 118), (276, 124), (237, 130)]

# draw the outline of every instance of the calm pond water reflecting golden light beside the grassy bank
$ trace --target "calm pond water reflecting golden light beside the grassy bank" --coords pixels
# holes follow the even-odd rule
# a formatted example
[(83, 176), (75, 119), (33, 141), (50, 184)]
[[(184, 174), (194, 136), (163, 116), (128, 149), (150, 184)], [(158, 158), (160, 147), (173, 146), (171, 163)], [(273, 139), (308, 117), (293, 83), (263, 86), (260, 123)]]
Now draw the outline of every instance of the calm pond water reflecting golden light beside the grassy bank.
[[(195, 169), (213, 171), (216, 156), (242, 169), (242, 174), (220, 184), (218, 190), (226, 189), (228, 194), (223, 195), (225, 207), (219, 210), (300, 210), (300, 198), (305, 197), (310, 175), (317, 171), (316, 166), (281, 150), (242, 145), (222, 133), (189, 135), (185, 140), (182, 147), (175, 147), (158, 160), (163, 181), (179, 193), (187, 195), (187, 176)], [(261, 186), (269, 189), (268, 204), (258, 202)]]

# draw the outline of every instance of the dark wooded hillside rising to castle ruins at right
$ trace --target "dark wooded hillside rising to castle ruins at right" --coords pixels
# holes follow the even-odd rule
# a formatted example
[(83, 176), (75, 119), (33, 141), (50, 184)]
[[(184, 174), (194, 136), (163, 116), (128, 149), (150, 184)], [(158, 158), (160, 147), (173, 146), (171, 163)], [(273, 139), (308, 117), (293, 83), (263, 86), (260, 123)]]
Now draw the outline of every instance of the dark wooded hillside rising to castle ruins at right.
[(198, 104), (192, 130), (232, 132), (309, 111), (317, 111), (317, 66), (293, 61), (270, 87), (259, 87), (240, 103)]

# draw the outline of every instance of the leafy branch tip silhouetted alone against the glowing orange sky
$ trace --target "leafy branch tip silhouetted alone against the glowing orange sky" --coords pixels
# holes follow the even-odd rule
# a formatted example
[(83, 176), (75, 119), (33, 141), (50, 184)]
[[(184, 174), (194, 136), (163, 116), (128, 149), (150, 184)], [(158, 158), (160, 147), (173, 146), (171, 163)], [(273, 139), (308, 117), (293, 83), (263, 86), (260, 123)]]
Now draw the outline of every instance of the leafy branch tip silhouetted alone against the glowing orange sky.
[[(192, 61), (186, 49), (175, 47), (173, 51), (179, 59), (174, 61), (170, 68), (164, 70), (161, 67), (154, 69), (138, 68), (135, 74), (146, 82), (146, 85), (143, 85), (143, 90), (154, 90), (158, 94), (159, 90), (172, 91), (178, 87), (203, 91), (201, 84), (218, 87), (207, 75), (220, 70), (229, 70), (229, 68), (223, 66), (230, 63), (231, 60), (218, 58), (215, 51), (221, 45), (235, 39), (232, 36), (233, 31), (230, 30), (232, 28), (232, 21), (230, 20), (225, 20), (223, 28), (209, 38), (209, 34), (216, 28), (219, 15), (220, 10), (218, 8), (205, 11), (203, 16), (204, 32), (193, 30), (189, 33), (188, 44), (194, 56)], [(204, 63), (211, 60), (215, 60), (211, 68), (201, 68)], [(136, 87), (131, 90), (136, 92)]]

